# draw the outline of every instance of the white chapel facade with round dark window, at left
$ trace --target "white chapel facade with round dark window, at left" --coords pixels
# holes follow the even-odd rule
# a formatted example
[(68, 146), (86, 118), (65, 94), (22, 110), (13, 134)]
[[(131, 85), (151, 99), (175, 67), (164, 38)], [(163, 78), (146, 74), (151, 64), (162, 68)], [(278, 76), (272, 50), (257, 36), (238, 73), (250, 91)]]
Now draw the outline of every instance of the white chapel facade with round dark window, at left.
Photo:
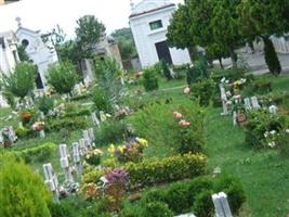
[(45, 89), (48, 67), (58, 61), (53, 44), (50, 41), (44, 42), (39, 31), (23, 28), (22, 26), (18, 27), (16, 36), (18, 43), (25, 47), (30, 62), (38, 67), (37, 89)]

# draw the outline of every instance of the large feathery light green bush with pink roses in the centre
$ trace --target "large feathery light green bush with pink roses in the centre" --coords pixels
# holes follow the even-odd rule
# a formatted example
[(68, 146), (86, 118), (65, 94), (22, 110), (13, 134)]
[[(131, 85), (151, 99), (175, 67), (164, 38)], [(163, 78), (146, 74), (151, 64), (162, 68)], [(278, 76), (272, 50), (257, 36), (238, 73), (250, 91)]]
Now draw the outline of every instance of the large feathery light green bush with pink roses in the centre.
[[(173, 113), (176, 111), (191, 123), (187, 133), (186, 129), (173, 118)], [(185, 153), (200, 151), (198, 148), (203, 146), (203, 118), (205, 113), (193, 101), (187, 100), (180, 104), (175, 100), (168, 100), (167, 102), (148, 101), (142, 111), (136, 112), (127, 122), (132, 125), (135, 133), (147, 139), (150, 145), (166, 146)], [(182, 130), (187, 137), (182, 137)]]

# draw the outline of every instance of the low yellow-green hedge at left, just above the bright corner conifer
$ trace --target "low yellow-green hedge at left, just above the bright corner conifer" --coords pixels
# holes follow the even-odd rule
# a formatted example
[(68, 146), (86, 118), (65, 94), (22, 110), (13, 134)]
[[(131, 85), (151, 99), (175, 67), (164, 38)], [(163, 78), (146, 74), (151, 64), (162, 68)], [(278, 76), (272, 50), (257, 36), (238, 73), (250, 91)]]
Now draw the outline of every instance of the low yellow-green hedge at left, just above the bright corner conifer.
[(26, 163), (30, 163), (32, 159), (42, 162), (49, 158), (56, 149), (56, 144), (48, 142), (23, 151), (13, 151), (12, 153), (15, 154), (17, 158), (24, 159)]

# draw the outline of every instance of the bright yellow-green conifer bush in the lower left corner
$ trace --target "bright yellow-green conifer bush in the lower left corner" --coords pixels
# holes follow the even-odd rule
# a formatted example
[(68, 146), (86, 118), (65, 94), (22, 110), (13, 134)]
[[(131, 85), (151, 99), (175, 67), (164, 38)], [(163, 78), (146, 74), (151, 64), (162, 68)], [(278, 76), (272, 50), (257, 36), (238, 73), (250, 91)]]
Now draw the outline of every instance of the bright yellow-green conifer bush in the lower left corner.
[(0, 216), (50, 217), (51, 195), (40, 175), (8, 156), (0, 170)]

